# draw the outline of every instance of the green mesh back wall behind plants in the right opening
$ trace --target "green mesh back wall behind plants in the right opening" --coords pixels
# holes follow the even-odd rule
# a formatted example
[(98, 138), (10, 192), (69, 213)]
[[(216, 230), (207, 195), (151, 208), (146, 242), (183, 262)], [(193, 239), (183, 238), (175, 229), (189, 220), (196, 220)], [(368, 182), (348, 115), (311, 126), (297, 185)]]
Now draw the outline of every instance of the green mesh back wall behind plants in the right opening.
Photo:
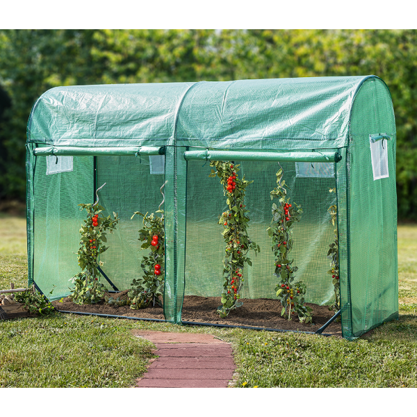
[[(235, 161), (238, 163), (238, 161)], [(266, 231), (272, 220), (270, 192), (277, 186), (277, 163), (239, 163), (248, 181), (246, 205), (250, 211), (250, 238), (261, 246), (261, 254), (252, 254), (253, 267), (245, 268), (244, 298), (276, 299), (278, 283), (272, 241)], [(330, 164), (332, 167), (334, 164)], [(302, 222), (295, 225), (295, 245), (291, 258), (300, 270), (297, 278), (309, 286), (307, 302), (328, 304), (334, 299), (332, 277), (327, 275), (329, 244), (334, 242), (334, 227), (328, 208), (336, 204), (332, 178), (296, 178), (295, 163), (281, 163), (285, 180), (291, 188), (292, 201), (304, 211)], [(227, 210), (220, 180), (209, 179), (211, 167), (188, 163), (186, 295), (220, 297), (222, 293), (225, 243), (218, 217)]]

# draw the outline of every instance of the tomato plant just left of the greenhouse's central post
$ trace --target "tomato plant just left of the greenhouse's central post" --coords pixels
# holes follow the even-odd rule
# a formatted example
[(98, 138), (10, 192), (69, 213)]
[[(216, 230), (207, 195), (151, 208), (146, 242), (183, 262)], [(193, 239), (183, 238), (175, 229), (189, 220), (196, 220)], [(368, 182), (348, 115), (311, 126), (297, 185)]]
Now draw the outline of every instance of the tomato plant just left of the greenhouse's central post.
[[(157, 211), (156, 214), (143, 215), (136, 212), (143, 218), (143, 229), (139, 231), (139, 240), (143, 242), (142, 250), (151, 250), (149, 256), (143, 258), (141, 267), (143, 277), (133, 280), (132, 290), (129, 292), (131, 299), (131, 309), (139, 310), (149, 307), (152, 302), (160, 303), (163, 296), (163, 285), (165, 283), (165, 221), (163, 211)], [(133, 218), (135, 217), (133, 215)], [(132, 218), (132, 219), (133, 219)]]

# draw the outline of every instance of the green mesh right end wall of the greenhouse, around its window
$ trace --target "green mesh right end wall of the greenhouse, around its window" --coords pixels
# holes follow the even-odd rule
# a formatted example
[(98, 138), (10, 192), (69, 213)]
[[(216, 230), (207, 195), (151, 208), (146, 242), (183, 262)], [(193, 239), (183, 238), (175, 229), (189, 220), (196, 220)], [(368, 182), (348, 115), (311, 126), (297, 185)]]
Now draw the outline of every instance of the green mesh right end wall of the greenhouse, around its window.
[[(352, 111), (350, 146), (350, 273), (352, 333), (398, 317), (395, 118), (379, 79), (363, 84)], [(388, 133), (390, 177), (374, 181), (371, 134)]]

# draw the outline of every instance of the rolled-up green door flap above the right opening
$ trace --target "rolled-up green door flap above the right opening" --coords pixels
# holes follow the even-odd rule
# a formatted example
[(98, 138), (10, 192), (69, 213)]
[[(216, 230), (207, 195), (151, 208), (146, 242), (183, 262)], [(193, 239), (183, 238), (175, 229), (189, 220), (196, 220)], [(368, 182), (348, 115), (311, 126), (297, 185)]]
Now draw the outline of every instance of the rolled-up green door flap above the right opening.
[(238, 151), (188, 151), (186, 161), (277, 161), (338, 163), (342, 156), (337, 152), (238, 152)]

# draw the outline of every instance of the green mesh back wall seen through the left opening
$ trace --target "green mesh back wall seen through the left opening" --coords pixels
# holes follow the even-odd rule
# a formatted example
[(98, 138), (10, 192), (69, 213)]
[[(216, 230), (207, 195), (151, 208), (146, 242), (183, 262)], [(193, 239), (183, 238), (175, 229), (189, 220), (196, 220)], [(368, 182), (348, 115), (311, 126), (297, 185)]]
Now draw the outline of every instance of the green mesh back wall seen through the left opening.
[[(143, 256), (149, 251), (141, 250), (138, 231), (143, 219), (136, 211), (156, 213), (163, 201), (160, 189), (164, 175), (151, 174), (149, 157), (98, 156), (97, 188), (106, 186), (99, 193), (99, 204), (106, 208), (105, 215), (117, 213), (120, 222), (113, 234), (108, 234), (107, 252), (100, 256), (102, 270), (120, 291), (131, 288), (133, 279), (142, 277)], [(101, 279), (109, 290), (107, 281)]]

